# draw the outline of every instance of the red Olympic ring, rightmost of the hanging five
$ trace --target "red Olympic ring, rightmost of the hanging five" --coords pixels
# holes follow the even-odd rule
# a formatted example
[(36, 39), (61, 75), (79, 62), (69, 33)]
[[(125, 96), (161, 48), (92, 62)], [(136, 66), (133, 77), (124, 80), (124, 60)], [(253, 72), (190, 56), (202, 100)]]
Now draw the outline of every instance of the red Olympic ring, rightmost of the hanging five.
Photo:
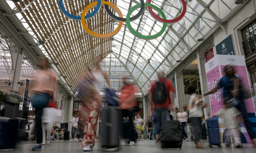
[[(180, 0), (181, 3), (182, 3), (182, 12), (181, 12), (181, 15), (178, 16), (177, 18), (174, 18), (174, 19), (171, 19), (171, 20), (166, 20), (166, 19), (163, 19), (159, 16), (157, 16), (153, 10), (152, 10), (152, 7), (148, 6), (147, 9), (150, 13), (150, 15), (155, 19), (155, 20), (158, 20), (159, 22), (161, 23), (176, 23), (178, 22), (179, 20), (181, 20), (184, 16), (185, 16), (185, 13), (187, 11), (187, 4), (185, 2), (185, 0)], [(147, 3), (151, 4), (151, 0), (148, 0)]]

